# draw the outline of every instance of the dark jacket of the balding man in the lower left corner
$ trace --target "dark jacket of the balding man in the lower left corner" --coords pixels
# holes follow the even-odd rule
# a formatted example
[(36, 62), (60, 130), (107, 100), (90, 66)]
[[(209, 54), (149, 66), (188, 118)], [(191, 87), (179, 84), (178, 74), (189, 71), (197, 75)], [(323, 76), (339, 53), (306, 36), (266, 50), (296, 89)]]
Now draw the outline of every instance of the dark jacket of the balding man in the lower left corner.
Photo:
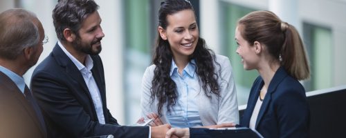
[(3, 72), (0, 72), (0, 137), (46, 137), (35, 110)]

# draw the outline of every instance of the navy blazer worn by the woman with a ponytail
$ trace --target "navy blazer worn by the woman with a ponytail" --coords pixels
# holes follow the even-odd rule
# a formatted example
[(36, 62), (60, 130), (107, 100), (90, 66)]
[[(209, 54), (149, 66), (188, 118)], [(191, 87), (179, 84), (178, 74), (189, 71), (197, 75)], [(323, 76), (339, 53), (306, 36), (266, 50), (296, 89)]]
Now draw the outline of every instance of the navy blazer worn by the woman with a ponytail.
[[(257, 77), (240, 126), (249, 126), (263, 85), (262, 77)], [(255, 129), (266, 138), (309, 137), (309, 119), (309, 105), (303, 86), (280, 67), (268, 86)]]

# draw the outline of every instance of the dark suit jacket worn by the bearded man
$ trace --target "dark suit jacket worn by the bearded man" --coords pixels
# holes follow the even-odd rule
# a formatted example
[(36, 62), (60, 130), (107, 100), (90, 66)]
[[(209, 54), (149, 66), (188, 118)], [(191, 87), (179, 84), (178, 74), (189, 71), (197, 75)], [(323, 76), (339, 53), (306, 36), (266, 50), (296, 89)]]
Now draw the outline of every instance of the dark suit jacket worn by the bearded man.
[(57, 44), (31, 80), (31, 90), (37, 99), (47, 124), (49, 137), (148, 137), (149, 127), (119, 126), (107, 108), (104, 70), (100, 56), (93, 59), (93, 77), (100, 90), (106, 124), (99, 124), (93, 100), (82, 73)]

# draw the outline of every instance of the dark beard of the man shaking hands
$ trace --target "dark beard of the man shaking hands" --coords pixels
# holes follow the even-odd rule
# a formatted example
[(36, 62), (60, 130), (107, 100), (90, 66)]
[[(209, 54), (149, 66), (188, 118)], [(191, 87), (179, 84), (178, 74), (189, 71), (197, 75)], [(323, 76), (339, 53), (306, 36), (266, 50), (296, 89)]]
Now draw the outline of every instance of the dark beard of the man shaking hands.
[(80, 51), (80, 52), (83, 52), (87, 55), (98, 55), (100, 54), (101, 50), (102, 50), (102, 47), (101, 47), (101, 44), (100, 44), (100, 47), (93, 51), (93, 44), (95, 43), (98, 43), (102, 40), (102, 38), (100, 39), (97, 39), (96, 41), (92, 41), (90, 44), (88, 43), (82, 43), (82, 39), (80, 39), (80, 37), (76, 37), (75, 41), (73, 41), (73, 48), (75, 48), (75, 50), (77, 51)]

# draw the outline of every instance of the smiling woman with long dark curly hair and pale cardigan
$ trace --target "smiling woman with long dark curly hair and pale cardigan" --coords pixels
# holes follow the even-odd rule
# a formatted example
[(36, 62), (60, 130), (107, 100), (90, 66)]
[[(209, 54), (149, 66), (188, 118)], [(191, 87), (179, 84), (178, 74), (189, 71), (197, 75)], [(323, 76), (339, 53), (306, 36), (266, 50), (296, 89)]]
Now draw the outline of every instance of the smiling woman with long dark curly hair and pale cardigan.
[(153, 65), (145, 70), (142, 92), (142, 115), (154, 118), (156, 125), (182, 128), (239, 122), (230, 61), (215, 55), (199, 37), (190, 1), (161, 3)]

